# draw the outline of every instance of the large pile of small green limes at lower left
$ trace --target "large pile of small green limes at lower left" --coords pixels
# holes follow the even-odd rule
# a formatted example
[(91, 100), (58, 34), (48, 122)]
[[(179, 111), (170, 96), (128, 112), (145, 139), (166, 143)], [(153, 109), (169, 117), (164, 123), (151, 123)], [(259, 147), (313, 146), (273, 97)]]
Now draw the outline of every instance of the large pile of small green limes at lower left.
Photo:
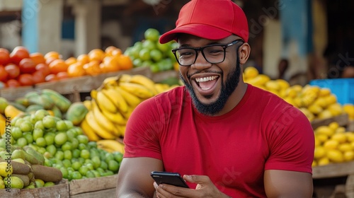
[[(11, 145), (29, 145), (45, 157), (45, 165), (58, 168), (63, 177), (77, 180), (118, 173), (122, 153), (108, 153), (89, 141), (80, 127), (54, 117), (46, 110), (11, 120)], [(6, 133), (0, 139), (6, 146)]]

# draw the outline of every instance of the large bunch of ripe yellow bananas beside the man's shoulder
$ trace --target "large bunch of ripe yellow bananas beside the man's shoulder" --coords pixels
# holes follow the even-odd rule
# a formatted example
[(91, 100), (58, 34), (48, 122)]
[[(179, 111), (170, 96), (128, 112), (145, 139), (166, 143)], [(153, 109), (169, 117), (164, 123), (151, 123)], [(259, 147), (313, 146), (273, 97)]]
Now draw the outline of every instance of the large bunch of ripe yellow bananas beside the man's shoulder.
[(170, 88), (172, 86), (154, 83), (140, 74), (105, 78), (98, 89), (91, 91), (91, 100), (83, 102), (89, 112), (81, 122), (81, 128), (90, 141), (122, 138), (135, 107)]

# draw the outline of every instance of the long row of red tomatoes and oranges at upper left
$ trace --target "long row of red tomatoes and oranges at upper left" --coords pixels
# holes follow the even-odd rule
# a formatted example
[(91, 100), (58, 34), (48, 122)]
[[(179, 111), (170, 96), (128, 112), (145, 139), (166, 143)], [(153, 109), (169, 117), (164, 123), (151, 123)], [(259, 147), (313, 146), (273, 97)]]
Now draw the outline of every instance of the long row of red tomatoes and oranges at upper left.
[(96, 76), (113, 71), (132, 69), (132, 59), (117, 47), (104, 51), (93, 49), (88, 54), (62, 59), (59, 52), (29, 53), (18, 46), (10, 53), (0, 48), (0, 88), (33, 86), (64, 78)]

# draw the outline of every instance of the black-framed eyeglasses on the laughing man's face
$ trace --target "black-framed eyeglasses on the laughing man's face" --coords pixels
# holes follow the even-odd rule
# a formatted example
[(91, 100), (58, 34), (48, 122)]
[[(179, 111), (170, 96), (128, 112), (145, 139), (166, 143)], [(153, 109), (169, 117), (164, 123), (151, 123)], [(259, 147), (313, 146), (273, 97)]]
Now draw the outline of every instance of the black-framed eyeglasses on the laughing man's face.
[(176, 57), (178, 64), (181, 66), (190, 66), (195, 63), (198, 57), (198, 52), (202, 52), (202, 56), (211, 64), (224, 62), (226, 48), (235, 45), (243, 40), (234, 40), (227, 44), (213, 44), (205, 47), (181, 47), (173, 49), (172, 52)]

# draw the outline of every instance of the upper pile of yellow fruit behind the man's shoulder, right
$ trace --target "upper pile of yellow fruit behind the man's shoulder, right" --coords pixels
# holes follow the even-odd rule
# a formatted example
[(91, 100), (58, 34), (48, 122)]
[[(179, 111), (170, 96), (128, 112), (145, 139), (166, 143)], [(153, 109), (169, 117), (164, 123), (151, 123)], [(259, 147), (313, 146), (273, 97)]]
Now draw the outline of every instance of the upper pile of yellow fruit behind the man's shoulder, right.
[(244, 70), (244, 81), (275, 93), (304, 112), (309, 121), (322, 120), (344, 113), (347, 113), (351, 119), (354, 118), (354, 105), (337, 103), (336, 95), (333, 95), (329, 88), (310, 85), (290, 86), (285, 80), (272, 80), (265, 74), (258, 74), (258, 70), (253, 66), (246, 67)]

